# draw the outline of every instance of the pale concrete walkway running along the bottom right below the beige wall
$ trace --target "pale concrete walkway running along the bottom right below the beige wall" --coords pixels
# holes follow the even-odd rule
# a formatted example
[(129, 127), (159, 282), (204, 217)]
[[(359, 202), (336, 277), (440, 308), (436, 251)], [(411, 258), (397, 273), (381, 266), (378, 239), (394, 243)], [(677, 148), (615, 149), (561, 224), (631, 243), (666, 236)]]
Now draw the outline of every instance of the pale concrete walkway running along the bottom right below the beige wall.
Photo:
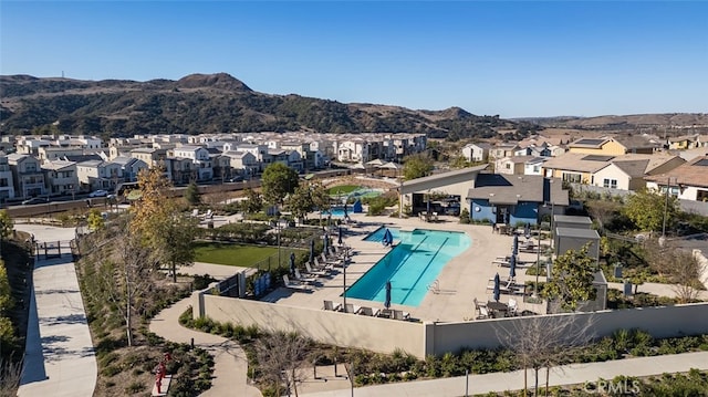
[[(685, 353), (676, 355), (617, 359), (605, 363), (573, 364), (553, 368), (551, 370), (549, 385), (582, 385), (585, 382), (596, 383), (600, 378), (612, 379), (617, 375), (626, 376), (649, 376), (663, 373), (684, 373), (690, 368), (708, 369), (708, 352)], [(343, 373), (343, 368), (340, 374)], [(321, 375), (321, 370), (317, 370)], [(545, 370), (539, 374), (539, 387), (545, 385)], [(332, 380), (330, 380), (332, 382)], [(327, 382), (327, 383), (330, 383)], [(308, 393), (304, 389), (314, 389), (313, 383), (327, 384), (324, 380), (309, 380), (299, 386), (299, 395), (308, 397), (376, 397), (376, 396), (437, 396), (458, 397), (469, 395), (486, 394), (489, 391), (503, 393), (507, 390), (523, 389), (523, 370), (511, 373), (494, 373), (485, 375), (470, 375), (442, 378), (434, 380), (402, 382), (395, 384), (357, 387), (352, 394), (348, 380), (335, 379), (342, 388), (336, 390)], [(533, 388), (533, 372), (528, 373), (528, 387)], [(615, 385), (616, 386), (616, 385)], [(620, 385), (623, 387), (625, 385)], [(633, 385), (626, 385), (627, 391), (632, 391)], [(607, 388), (605, 388), (607, 391)], [(593, 393), (593, 391), (591, 391)], [(596, 390), (594, 393), (597, 393)]]

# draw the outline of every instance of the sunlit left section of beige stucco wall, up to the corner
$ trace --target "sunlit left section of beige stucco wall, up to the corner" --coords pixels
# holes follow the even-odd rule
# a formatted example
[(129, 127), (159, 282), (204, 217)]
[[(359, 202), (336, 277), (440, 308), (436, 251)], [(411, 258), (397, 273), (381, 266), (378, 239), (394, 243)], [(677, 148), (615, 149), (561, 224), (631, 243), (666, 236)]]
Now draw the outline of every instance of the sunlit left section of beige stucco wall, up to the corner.
[[(272, 304), (204, 294), (205, 315), (218, 322), (258, 325), (269, 331), (298, 331), (314, 341), (381, 353), (400, 348), (425, 357), (423, 323)], [(198, 297), (197, 297), (198, 299)], [(198, 307), (198, 301), (192, 307)], [(194, 315), (198, 316), (198, 310)]]

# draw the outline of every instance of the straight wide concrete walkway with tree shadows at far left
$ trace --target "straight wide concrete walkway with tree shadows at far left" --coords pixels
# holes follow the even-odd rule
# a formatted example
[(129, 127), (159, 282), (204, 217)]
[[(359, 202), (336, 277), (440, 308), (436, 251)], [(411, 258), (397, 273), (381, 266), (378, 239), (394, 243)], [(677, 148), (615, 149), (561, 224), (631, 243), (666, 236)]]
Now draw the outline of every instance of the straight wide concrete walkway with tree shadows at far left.
[[(73, 228), (15, 224), (39, 243), (63, 241), (61, 258), (34, 264), (34, 290), (22, 379), (18, 396), (90, 397), (96, 385), (94, 355), (86, 313), (67, 241)], [(66, 251), (64, 251), (66, 250)]]

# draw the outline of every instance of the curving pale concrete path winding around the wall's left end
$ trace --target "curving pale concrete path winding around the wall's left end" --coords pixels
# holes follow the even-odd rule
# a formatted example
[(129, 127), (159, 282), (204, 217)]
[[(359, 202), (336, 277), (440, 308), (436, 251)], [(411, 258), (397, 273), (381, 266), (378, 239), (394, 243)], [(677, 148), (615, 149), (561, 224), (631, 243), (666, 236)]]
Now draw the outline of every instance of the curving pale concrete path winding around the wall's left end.
[[(183, 267), (179, 273), (205, 274), (219, 279), (235, 274), (239, 268), (218, 264), (199, 263), (195, 267)], [(195, 292), (196, 293), (196, 292)], [(190, 299), (184, 299), (162, 311), (150, 321), (149, 330), (155, 334), (173, 342), (191, 343), (207, 349), (214, 355), (214, 379), (211, 388), (202, 396), (244, 396), (261, 397), (258, 388), (248, 385), (248, 361), (246, 353), (238, 343), (218, 335), (192, 331), (179, 324), (179, 315), (190, 304)]]

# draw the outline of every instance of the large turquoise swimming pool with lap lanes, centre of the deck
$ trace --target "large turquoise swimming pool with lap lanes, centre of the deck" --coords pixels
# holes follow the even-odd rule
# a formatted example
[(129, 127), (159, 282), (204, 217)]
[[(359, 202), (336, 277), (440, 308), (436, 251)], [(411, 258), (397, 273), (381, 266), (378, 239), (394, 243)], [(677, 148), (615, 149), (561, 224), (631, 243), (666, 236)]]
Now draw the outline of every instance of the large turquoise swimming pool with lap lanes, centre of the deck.
[[(398, 241), (397, 245), (348, 289), (347, 297), (383, 303), (386, 281), (391, 280), (392, 303), (418, 306), (442, 268), (471, 243), (469, 237), (461, 232), (389, 230), (394, 242)], [(382, 228), (364, 240), (381, 242), (384, 232), (385, 228)], [(378, 233), (381, 236), (376, 240)]]

